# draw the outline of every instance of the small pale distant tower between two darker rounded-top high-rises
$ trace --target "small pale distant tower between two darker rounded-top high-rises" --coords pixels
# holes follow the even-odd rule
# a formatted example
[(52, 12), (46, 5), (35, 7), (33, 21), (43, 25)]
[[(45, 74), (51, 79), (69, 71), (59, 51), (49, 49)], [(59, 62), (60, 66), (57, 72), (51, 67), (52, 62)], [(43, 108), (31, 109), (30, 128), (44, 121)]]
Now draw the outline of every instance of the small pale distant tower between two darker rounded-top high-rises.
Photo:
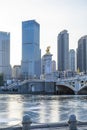
[(75, 71), (75, 50), (70, 49), (69, 51), (69, 70)]

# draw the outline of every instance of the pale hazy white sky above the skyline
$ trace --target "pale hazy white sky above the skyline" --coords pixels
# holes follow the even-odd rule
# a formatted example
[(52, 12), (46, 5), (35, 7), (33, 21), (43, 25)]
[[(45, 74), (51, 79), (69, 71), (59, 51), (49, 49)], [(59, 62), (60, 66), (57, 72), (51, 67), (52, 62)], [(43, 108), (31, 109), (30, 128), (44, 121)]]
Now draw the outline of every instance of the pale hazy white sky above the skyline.
[(40, 24), (42, 55), (51, 46), (57, 55), (57, 36), (67, 29), (69, 48), (77, 48), (78, 39), (87, 35), (87, 0), (0, 0), (0, 31), (11, 33), (11, 65), (21, 63), (22, 21), (35, 19)]

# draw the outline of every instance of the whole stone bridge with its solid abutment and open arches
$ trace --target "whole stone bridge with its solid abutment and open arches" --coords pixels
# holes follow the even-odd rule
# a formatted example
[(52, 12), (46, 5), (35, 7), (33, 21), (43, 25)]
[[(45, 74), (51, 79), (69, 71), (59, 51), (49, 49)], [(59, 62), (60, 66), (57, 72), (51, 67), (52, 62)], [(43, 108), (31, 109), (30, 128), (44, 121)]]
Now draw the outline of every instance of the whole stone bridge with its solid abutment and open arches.
[(28, 79), (6, 86), (10, 92), (18, 93), (52, 93), (52, 94), (87, 94), (87, 75), (63, 79)]

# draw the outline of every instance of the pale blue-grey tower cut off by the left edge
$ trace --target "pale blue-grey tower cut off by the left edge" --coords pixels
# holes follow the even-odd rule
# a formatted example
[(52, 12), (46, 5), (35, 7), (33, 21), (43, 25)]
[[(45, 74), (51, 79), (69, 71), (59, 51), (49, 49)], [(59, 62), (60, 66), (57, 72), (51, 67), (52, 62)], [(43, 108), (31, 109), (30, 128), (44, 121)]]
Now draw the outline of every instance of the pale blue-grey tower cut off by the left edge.
[(4, 79), (11, 76), (10, 67), (10, 33), (0, 32), (0, 73)]

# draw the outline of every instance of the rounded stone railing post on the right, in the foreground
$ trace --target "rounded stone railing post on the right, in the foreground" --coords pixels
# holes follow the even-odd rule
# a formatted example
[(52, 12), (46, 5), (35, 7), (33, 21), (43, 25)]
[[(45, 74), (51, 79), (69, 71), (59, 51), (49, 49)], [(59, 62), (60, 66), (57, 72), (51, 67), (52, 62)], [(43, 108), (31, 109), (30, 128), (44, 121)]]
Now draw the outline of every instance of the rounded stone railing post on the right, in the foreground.
[(68, 124), (69, 130), (77, 130), (77, 120), (75, 115), (70, 115)]

